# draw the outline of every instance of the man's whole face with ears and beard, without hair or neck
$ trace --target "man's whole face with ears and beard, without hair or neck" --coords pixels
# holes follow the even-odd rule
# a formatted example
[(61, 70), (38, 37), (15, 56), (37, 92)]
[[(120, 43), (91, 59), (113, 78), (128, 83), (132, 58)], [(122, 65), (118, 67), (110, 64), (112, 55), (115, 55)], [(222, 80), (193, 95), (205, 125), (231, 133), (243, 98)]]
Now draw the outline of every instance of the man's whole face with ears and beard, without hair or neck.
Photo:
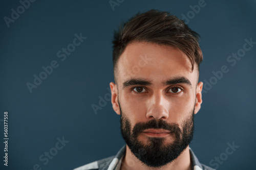
[(126, 46), (111, 83), (121, 114), (122, 136), (148, 166), (176, 159), (193, 137), (193, 117), (202, 103), (198, 68), (178, 48), (146, 42)]

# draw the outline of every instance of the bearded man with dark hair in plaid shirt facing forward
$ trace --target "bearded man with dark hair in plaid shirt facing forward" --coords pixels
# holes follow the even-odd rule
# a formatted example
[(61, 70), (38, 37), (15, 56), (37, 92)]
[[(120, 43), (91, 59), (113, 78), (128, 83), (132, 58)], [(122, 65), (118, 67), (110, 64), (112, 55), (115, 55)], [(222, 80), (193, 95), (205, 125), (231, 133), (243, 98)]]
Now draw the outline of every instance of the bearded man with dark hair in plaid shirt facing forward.
[(184, 21), (157, 10), (137, 14), (115, 32), (111, 102), (126, 145), (75, 170), (212, 169), (188, 146), (202, 104), (198, 39)]

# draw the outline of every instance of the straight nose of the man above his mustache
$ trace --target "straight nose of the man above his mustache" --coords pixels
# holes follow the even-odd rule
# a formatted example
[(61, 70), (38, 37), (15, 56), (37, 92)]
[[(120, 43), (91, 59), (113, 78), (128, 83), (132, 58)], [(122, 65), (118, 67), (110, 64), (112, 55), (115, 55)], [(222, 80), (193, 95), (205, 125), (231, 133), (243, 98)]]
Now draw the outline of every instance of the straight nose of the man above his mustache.
[(169, 101), (166, 99), (166, 96), (164, 96), (162, 92), (154, 93), (148, 101), (146, 117), (148, 119), (167, 119), (169, 116), (169, 105)]

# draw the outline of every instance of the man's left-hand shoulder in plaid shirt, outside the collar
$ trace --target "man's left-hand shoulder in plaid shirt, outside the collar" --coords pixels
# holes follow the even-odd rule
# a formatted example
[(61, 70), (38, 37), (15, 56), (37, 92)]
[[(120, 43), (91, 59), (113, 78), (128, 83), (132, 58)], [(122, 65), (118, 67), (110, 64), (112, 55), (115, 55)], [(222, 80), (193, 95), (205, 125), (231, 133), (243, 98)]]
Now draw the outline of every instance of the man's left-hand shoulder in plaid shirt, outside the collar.
[(110, 165), (110, 163), (112, 162), (112, 160), (114, 159), (115, 156), (111, 156), (108, 158), (104, 158), (104, 159), (100, 159), (85, 165), (82, 165), (80, 167), (77, 167), (73, 170), (90, 170), (90, 169), (94, 169), (94, 170), (100, 170), (103, 167), (108, 167)]

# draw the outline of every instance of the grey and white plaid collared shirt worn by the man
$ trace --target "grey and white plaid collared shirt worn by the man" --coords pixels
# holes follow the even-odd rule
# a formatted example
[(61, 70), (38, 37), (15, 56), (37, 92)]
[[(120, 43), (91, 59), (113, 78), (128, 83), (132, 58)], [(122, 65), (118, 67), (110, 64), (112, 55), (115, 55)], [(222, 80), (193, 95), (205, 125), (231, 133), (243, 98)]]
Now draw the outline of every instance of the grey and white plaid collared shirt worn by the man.
[[(126, 147), (125, 145), (120, 149), (120, 151), (116, 154), (116, 156), (112, 156), (109, 158), (101, 159), (98, 161), (94, 161), (92, 163), (80, 166), (75, 168), (74, 170), (120, 170), (122, 158), (125, 155)], [(190, 156), (193, 160), (193, 167), (194, 170), (215, 170), (211, 167), (208, 167), (204, 164), (201, 164), (199, 160), (197, 159), (194, 152), (189, 148)]]

